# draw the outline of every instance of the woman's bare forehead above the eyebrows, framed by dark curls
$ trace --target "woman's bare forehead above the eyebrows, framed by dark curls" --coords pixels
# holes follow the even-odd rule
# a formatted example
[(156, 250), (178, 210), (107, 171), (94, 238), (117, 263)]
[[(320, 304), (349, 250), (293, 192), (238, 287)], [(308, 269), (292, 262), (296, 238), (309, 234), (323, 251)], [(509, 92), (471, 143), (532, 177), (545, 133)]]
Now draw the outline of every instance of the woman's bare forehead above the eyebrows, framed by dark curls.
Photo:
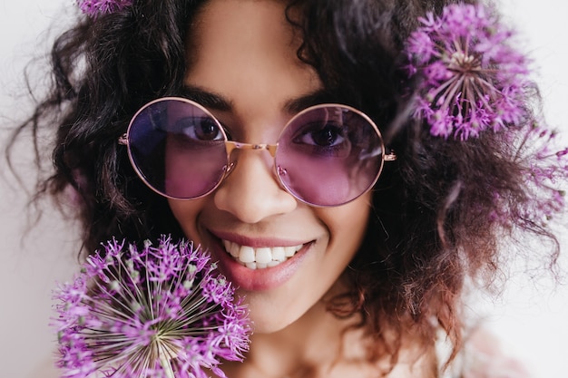
[[(299, 31), (286, 5), (269, 0), (211, 0), (190, 25), (185, 83), (242, 104), (283, 107), (320, 87), (299, 60)], [(253, 111), (242, 110), (242, 111)]]

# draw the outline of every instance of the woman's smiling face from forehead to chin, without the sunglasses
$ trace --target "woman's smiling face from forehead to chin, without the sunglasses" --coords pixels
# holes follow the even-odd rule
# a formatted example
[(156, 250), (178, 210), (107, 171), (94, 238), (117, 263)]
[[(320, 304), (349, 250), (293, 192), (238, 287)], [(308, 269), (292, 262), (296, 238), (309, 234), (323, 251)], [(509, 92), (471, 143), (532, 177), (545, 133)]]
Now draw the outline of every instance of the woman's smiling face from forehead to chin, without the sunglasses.
[[(188, 93), (232, 140), (275, 143), (295, 108), (321, 89), (296, 56), (301, 41), (284, 9), (277, 1), (211, 0), (191, 24)], [(255, 332), (278, 331), (338, 286), (363, 238), (370, 194), (313, 208), (279, 186), (266, 150), (237, 150), (232, 159), (238, 163), (218, 189), (170, 206), (186, 236), (240, 287)]]

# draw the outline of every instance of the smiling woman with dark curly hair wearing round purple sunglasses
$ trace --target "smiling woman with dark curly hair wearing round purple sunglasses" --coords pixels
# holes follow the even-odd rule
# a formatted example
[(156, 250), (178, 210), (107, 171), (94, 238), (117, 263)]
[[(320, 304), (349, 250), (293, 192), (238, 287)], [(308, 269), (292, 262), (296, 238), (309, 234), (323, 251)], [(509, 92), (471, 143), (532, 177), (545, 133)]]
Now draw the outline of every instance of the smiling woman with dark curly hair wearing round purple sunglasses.
[(85, 253), (162, 234), (210, 250), (254, 325), (231, 378), (465, 376), (465, 282), (491, 280), (514, 229), (555, 239), (510, 148), (528, 84), (495, 132), (416, 111), (406, 41), (451, 2), (423, 3), (87, 7), (23, 126), (56, 132), (45, 191), (74, 189)]

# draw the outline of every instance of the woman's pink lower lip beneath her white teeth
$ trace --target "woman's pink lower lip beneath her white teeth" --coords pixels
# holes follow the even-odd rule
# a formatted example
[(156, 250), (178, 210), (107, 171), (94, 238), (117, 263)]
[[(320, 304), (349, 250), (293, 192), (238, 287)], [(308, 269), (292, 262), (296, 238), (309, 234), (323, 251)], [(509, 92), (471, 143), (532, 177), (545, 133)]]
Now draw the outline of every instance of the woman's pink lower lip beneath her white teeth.
[(215, 255), (219, 258), (221, 272), (233, 285), (246, 291), (265, 291), (284, 285), (299, 269), (312, 243), (304, 245), (296, 255), (276, 267), (250, 269), (243, 267), (225, 251), (219, 239), (214, 243)]

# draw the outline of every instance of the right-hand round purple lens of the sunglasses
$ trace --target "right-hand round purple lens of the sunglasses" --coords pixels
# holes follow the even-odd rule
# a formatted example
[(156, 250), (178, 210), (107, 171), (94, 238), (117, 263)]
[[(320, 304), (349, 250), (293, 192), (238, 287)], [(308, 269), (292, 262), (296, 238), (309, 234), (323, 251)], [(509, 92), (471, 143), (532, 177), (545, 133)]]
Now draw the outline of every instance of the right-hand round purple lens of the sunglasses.
[(367, 116), (344, 106), (321, 105), (299, 113), (279, 139), (276, 166), (298, 199), (338, 206), (357, 199), (377, 181), (383, 141)]

